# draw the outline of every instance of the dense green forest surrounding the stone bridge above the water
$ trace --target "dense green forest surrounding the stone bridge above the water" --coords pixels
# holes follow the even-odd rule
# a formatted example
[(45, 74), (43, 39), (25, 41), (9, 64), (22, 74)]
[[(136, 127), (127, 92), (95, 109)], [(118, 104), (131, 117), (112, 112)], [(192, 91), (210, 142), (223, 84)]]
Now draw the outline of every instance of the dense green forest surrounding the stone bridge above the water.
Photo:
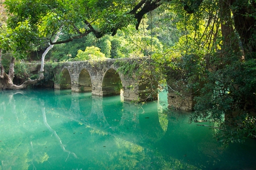
[[(256, 1), (2, 0), (0, 5), (5, 88), (39, 83), (45, 59), (148, 56), (150, 65), (141, 69), (169, 91), (195, 96), (191, 121), (216, 122), (216, 138), (224, 145), (256, 138)], [(20, 61), (41, 61), (42, 67), (35, 79), (26, 74), (17, 86), (14, 68), (19, 75), (26, 71)]]

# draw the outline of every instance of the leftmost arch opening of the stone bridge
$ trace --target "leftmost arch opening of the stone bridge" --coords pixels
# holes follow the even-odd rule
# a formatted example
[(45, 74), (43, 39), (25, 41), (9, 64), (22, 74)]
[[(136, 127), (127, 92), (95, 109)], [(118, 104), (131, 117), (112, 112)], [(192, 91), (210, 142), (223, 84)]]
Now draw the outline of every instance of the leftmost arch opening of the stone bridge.
[(63, 69), (58, 75), (59, 89), (71, 89), (71, 76), (68, 69)]

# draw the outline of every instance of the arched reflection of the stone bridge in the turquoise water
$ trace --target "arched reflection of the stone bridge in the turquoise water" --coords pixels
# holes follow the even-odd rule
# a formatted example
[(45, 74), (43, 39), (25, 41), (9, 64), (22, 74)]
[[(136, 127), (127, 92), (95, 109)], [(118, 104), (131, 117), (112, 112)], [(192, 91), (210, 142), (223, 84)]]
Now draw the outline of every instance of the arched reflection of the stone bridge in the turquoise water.
[(57, 97), (56, 102), (63, 116), (105, 133), (120, 135), (128, 141), (136, 137), (131, 142), (137, 144), (144, 141), (154, 143), (163, 137), (167, 129), (163, 127), (163, 130), (160, 125), (156, 103), (143, 108), (139, 104), (121, 101), (120, 96), (100, 97), (73, 92), (69, 99)]

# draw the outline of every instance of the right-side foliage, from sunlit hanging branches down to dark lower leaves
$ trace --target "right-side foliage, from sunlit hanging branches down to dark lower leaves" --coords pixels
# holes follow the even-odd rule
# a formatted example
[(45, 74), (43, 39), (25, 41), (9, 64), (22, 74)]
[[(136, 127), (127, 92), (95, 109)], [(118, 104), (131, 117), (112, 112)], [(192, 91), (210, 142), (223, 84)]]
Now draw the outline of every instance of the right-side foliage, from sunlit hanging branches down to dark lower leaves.
[(194, 95), (191, 121), (218, 122), (221, 130), (216, 137), (224, 145), (255, 138), (256, 61), (242, 58), (233, 46), (224, 46), (216, 18), (217, 1), (204, 1), (189, 15), (172, 2), (179, 42), (165, 56), (154, 56), (159, 64), (156, 67), (162, 65), (158, 70), (166, 73), (169, 90), (180, 96)]

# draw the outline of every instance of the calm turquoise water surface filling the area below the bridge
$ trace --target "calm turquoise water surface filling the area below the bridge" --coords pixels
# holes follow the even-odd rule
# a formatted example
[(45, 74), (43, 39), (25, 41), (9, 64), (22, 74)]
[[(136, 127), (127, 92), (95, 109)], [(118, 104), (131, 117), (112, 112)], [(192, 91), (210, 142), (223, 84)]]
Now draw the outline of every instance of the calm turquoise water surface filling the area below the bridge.
[(255, 169), (256, 141), (222, 148), (207, 123), (70, 90), (0, 93), (0, 169)]

